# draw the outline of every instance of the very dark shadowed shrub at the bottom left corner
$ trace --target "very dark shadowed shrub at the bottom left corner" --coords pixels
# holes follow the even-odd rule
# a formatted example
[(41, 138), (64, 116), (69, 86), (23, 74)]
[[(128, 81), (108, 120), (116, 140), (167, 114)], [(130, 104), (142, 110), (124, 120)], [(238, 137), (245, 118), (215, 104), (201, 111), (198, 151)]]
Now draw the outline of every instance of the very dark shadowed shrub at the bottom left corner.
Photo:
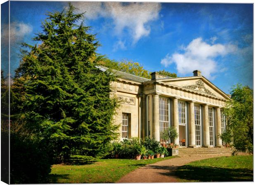
[(10, 183), (49, 183), (52, 156), (47, 144), (17, 132), (11, 132), (10, 143)]

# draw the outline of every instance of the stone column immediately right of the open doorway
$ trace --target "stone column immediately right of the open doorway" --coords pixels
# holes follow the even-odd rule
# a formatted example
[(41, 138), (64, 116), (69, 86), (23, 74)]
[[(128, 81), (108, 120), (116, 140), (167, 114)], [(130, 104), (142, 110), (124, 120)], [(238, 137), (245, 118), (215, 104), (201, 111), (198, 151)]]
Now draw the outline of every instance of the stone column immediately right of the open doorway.
[(195, 126), (194, 126), (194, 101), (190, 102), (189, 108), (189, 146), (188, 147), (196, 147), (196, 134), (195, 134)]

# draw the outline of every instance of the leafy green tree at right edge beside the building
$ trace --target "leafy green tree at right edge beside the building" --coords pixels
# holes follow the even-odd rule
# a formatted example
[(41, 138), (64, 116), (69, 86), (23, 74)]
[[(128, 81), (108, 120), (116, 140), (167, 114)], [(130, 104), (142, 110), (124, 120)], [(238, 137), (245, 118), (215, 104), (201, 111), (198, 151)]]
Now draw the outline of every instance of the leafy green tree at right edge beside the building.
[(225, 107), (227, 132), (237, 150), (253, 150), (253, 90), (238, 84), (231, 90), (231, 99)]

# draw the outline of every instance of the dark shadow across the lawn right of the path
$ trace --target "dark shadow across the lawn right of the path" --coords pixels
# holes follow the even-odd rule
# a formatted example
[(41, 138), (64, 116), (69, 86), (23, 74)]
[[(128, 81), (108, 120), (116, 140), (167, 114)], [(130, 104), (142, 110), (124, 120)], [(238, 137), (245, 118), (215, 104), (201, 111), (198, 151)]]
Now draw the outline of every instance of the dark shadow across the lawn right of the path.
[(174, 175), (183, 180), (199, 182), (253, 181), (253, 170), (250, 169), (185, 165), (178, 167)]

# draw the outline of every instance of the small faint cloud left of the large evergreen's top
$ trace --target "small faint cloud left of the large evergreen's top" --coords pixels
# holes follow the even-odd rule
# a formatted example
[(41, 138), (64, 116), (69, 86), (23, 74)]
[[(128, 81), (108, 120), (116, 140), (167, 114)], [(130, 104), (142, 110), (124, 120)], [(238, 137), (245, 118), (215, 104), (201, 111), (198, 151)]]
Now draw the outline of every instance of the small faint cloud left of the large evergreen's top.
[[(10, 24), (10, 42), (21, 41), (25, 35), (30, 34), (33, 27), (22, 22), (13, 22)], [(2, 26), (2, 42), (9, 42), (9, 26)]]

